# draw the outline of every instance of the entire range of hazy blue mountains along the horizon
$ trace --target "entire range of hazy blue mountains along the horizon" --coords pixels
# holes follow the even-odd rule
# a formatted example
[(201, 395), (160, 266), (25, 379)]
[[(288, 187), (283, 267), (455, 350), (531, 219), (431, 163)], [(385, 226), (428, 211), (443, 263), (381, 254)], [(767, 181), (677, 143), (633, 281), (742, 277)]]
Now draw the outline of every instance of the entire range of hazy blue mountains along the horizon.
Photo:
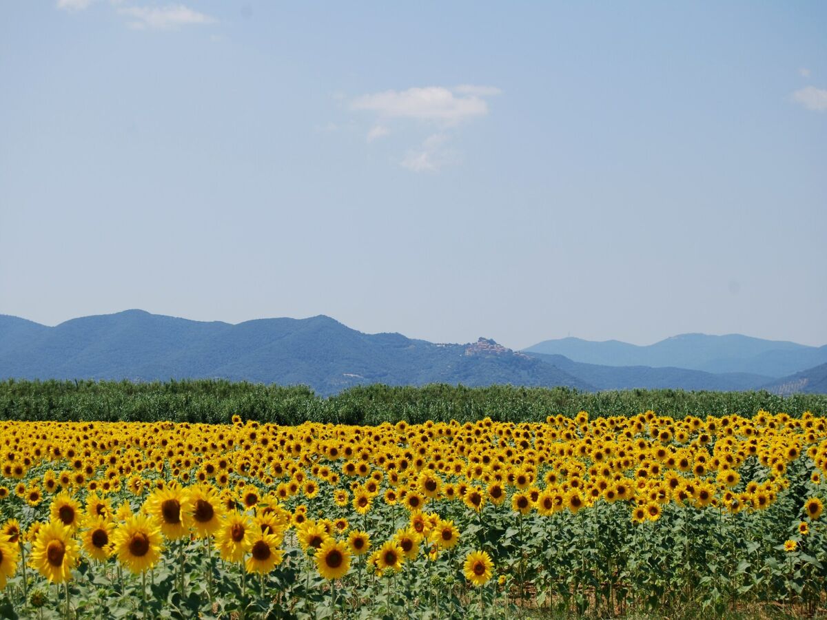
[(366, 334), (323, 315), (233, 325), (127, 310), (55, 327), (0, 315), (0, 379), (185, 378), (307, 384), (323, 395), (370, 383), (827, 392), (827, 347), (687, 334), (648, 347), (566, 338), (513, 351), (486, 338)]

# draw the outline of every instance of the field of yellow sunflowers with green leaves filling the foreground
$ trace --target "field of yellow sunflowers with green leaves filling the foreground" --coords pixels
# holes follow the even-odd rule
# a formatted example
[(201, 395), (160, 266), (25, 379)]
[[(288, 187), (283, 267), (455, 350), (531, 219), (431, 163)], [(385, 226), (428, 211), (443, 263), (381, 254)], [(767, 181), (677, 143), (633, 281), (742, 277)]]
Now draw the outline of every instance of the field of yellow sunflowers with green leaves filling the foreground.
[(0, 443), (0, 618), (827, 605), (827, 422), (808, 412), (0, 422)]

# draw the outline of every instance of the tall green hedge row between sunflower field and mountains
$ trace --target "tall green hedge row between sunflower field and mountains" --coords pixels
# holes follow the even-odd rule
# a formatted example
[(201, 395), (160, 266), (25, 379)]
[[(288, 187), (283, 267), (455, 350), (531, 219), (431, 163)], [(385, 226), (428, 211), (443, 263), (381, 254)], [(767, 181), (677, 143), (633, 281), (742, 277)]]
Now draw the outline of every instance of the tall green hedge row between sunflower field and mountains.
[(246, 420), (294, 425), (311, 420), (346, 424), (381, 422), (459, 422), (485, 416), (499, 421), (537, 422), (547, 415), (631, 416), (652, 409), (673, 417), (739, 413), (759, 409), (801, 415), (827, 414), (827, 394), (788, 397), (768, 392), (684, 392), (633, 389), (587, 393), (568, 388), (519, 388), (494, 385), (467, 388), (367, 385), (321, 398), (304, 386), (233, 383), (225, 380), (131, 383), (128, 381), (0, 382), (0, 419), (156, 422)]

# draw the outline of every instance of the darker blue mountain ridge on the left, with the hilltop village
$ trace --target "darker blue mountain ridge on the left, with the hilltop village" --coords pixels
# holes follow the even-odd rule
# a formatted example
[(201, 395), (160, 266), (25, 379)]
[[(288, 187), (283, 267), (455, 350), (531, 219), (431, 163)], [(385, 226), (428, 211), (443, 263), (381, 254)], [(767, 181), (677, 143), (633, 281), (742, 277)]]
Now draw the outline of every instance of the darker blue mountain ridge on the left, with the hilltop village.
[(0, 341), (2, 378), (220, 377), (307, 384), (322, 394), (368, 383), (594, 389), (553, 365), (505, 347), (483, 351), (476, 346), (481, 340), (437, 345), (395, 332), (366, 334), (326, 315), (233, 325), (130, 310), (78, 317), (55, 327), (16, 318), (0, 320), (0, 336), (14, 335)]

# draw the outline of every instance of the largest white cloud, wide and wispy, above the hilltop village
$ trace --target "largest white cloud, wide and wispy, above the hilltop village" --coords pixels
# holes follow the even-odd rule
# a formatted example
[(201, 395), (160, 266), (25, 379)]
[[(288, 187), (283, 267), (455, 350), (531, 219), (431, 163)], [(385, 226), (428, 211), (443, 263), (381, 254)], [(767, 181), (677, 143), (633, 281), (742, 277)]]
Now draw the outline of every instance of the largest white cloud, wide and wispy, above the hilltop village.
[(351, 108), (376, 112), (384, 118), (415, 118), (444, 123), (461, 122), (488, 113), (488, 104), (480, 95), (457, 96), (441, 86), (366, 94), (354, 99)]

